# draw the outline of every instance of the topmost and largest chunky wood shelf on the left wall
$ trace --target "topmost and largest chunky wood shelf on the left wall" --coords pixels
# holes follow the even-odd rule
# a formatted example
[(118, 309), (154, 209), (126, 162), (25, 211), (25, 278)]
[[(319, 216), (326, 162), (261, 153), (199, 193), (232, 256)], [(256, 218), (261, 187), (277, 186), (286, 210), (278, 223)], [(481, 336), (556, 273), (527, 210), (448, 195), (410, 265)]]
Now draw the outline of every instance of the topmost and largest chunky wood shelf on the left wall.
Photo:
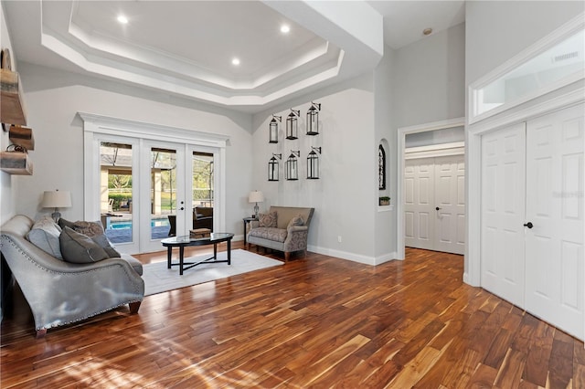
[(23, 95), (18, 73), (0, 68), (0, 122), (27, 125)]

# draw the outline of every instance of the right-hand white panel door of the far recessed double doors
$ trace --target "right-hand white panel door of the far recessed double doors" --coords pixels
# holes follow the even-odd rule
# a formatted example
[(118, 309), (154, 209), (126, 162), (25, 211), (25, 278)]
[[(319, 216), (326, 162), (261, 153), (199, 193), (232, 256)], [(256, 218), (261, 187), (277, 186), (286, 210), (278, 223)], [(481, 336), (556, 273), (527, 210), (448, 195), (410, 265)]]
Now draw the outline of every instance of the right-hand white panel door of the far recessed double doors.
[(453, 254), (463, 254), (465, 251), (464, 166), (463, 155), (434, 159), (434, 249), (437, 251)]

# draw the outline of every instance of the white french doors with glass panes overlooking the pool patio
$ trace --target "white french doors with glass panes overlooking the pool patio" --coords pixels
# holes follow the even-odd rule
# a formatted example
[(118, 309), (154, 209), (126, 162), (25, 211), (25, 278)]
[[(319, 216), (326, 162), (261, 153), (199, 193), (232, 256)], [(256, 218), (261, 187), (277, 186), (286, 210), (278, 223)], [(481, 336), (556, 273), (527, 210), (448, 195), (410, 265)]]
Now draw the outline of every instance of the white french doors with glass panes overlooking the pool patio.
[[(90, 187), (106, 236), (124, 253), (159, 251), (188, 235), (197, 205), (214, 207), (218, 149), (94, 134), (99, 163)], [(217, 208), (216, 208), (217, 213)], [(215, 218), (214, 218), (215, 221)], [(215, 223), (214, 223), (215, 224)]]

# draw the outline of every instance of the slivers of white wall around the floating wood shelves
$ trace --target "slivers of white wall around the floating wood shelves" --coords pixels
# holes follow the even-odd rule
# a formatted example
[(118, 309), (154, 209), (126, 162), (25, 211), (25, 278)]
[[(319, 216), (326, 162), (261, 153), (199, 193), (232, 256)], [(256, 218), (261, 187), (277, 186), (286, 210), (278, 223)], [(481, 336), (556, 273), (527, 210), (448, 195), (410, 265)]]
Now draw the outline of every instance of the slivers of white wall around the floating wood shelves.
[[(6, 26), (4, 7), (0, 4), (0, 49), (8, 48), (12, 57), (12, 69), (16, 70), (16, 53), (12, 48), (10, 34)], [(0, 134), (0, 149), (6, 150), (10, 144), (8, 132)], [(13, 175), (0, 171), (0, 225), (15, 215), (16, 186), (13, 184)]]

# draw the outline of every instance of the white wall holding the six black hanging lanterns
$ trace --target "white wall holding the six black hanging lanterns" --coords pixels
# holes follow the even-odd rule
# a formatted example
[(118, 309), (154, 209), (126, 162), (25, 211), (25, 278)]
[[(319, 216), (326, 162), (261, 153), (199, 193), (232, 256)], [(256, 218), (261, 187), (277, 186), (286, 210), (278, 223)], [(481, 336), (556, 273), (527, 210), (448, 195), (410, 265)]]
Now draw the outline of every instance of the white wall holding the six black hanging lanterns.
[[(311, 100), (322, 104), (321, 133), (305, 134), (306, 111)], [(301, 110), (299, 139), (284, 139), (282, 125), (279, 143), (268, 142), (271, 114), (284, 119), (290, 108)], [(374, 95), (372, 75), (321, 90), (312, 96), (293, 100), (285, 106), (254, 115), (253, 187), (264, 193), (261, 211), (270, 205), (312, 206), (314, 218), (309, 230), (311, 251), (364, 263), (374, 261), (375, 187)], [(321, 146), (321, 178), (306, 179), (306, 158), (310, 146)], [(291, 150), (300, 150), (299, 181), (284, 179), (284, 162)], [(281, 180), (268, 182), (268, 161), (272, 152), (281, 153)], [(375, 190), (376, 189), (376, 190)], [(252, 205), (248, 206), (251, 213)], [(341, 242), (338, 242), (341, 237)]]

